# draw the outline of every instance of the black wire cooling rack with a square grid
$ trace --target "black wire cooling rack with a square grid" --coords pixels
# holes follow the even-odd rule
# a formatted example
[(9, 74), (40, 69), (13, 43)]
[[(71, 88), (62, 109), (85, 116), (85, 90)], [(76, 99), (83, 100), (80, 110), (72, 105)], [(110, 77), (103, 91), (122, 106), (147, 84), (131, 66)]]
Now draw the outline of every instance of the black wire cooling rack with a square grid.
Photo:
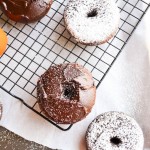
[(76, 43), (68, 34), (63, 20), (67, 2), (55, 0), (47, 16), (27, 25), (8, 20), (0, 11), (0, 27), (9, 38), (7, 51), (0, 58), (0, 88), (63, 131), (72, 125), (52, 122), (38, 107), (39, 76), (52, 64), (77, 62), (92, 72), (98, 87), (150, 5), (148, 0), (117, 0), (119, 30), (108, 43), (95, 47)]

